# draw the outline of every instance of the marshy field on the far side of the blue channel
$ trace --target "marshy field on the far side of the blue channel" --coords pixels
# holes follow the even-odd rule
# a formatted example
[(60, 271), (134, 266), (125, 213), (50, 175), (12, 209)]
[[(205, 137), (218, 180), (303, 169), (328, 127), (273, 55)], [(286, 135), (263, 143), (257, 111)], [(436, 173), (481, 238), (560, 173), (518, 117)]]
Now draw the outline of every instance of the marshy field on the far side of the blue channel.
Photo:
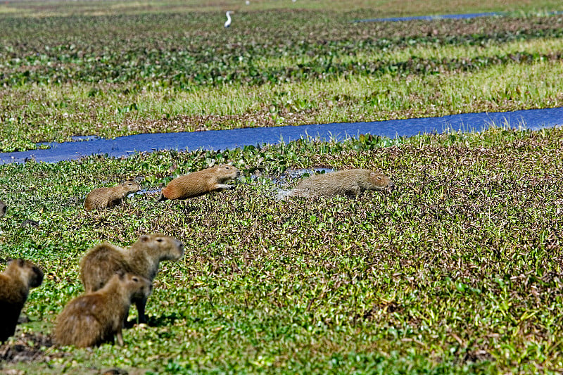
[(0, 4), (13, 9), (0, 13), (0, 151), (75, 135), (561, 105), (561, 15), (546, 13), (559, 10), (549, 2), (536, 11), (507, 3), (520, 11), (504, 18), (407, 23), (351, 23), (389, 4), (343, 12), (292, 3), (241, 8), (229, 30), (219, 9), (191, 3), (122, 13), (110, 10), (119, 2), (40, 6), (58, 15), (33, 4)]

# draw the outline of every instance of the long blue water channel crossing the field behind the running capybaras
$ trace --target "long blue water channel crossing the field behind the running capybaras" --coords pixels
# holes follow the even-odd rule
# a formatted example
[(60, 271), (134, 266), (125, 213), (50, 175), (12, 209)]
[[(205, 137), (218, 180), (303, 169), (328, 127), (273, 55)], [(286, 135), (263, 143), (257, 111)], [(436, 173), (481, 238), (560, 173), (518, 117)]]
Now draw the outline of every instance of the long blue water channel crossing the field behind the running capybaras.
[(158, 150), (224, 150), (249, 145), (278, 144), (298, 139), (315, 138), (342, 141), (360, 134), (396, 138), (421, 133), (480, 132), (491, 126), (516, 129), (542, 129), (563, 125), (563, 108), (517, 110), (514, 112), (464, 113), (443, 117), (412, 118), (374, 122), (341, 122), (325, 125), (254, 127), (207, 132), (136, 134), (115, 139), (85, 137), (82, 141), (46, 143), (49, 149), (0, 153), (0, 164), (37, 162), (56, 163), (75, 160), (92, 154), (127, 156)]

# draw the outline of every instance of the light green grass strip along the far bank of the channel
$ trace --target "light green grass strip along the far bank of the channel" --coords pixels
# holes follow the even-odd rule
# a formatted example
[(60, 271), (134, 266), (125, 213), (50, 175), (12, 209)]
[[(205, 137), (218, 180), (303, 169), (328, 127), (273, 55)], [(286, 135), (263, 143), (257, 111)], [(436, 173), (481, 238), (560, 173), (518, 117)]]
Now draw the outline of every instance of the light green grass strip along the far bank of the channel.
[[(127, 96), (110, 85), (14, 89), (0, 100), (18, 108), (5, 118), (2, 144), (13, 151), (25, 148), (29, 139), (42, 141), (43, 134), (68, 140), (80, 134), (111, 137), (557, 107), (563, 86), (554, 77), (562, 74), (559, 62), (538, 61), (422, 77), (352, 75), (329, 82), (167, 88)], [(25, 141), (10, 141), (11, 136)]]

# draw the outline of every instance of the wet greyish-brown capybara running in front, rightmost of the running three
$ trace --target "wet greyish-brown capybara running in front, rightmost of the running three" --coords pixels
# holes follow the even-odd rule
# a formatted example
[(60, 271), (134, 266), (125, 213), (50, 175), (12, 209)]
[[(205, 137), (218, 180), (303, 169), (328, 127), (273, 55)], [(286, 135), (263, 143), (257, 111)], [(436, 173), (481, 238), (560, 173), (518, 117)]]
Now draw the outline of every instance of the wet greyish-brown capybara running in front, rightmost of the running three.
[(305, 178), (289, 192), (289, 196), (358, 196), (366, 190), (391, 190), (394, 187), (393, 181), (380, 172), (341, 170)]

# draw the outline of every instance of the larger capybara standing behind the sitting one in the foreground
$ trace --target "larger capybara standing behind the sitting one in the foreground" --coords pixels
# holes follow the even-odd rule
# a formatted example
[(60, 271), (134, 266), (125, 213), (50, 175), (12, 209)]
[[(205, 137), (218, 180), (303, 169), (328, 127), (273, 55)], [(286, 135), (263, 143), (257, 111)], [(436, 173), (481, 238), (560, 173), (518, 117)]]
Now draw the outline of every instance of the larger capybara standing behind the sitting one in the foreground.
[[(158, 264), (163, 260), (178, 260), (184, 255), (184, 244), (162, 234), (140, 236), (129, 250), (111, 243), (91, 248), (80, 261), (80, 279), (87, 292), (102, 288), (115, 272), (130, 272), (153, 281)], [(139, 322), (145, 323), (146, 298), (134, 299)]]

